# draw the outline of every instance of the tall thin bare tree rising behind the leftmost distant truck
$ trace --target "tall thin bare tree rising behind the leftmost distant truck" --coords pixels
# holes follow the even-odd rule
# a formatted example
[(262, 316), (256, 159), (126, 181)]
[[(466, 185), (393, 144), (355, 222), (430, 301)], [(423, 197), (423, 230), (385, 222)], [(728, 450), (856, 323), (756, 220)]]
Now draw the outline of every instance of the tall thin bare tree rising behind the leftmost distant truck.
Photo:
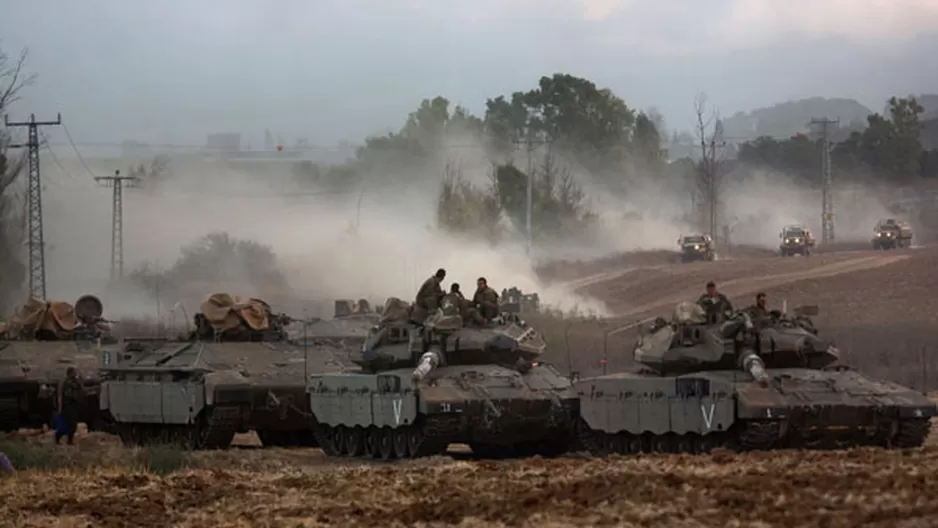
[(723, 139), (723, 123), (715, 110), (707, 111), (707, 95), (699, 92), (694, 98), (694, 112), (697, 116), (696, 135), (700, 142), (700, 169), (698, 188), (703, 197), (702, 209), (706, 211), (707, 230), (710, 236), (717, 237), (717, 204), (720, 192), (720, 162), (722, 150), (726, 146)]

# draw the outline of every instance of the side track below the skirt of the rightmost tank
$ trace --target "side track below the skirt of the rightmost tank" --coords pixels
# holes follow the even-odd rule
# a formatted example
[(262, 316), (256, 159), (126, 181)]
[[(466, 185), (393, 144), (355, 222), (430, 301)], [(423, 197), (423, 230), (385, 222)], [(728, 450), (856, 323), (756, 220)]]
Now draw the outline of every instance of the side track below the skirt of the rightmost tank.
[(638, 453), (705, 454), (717, 447), (733, 451), (763, 451), (777, 445), (781, 423), (770, 421), (741, 422), (727, 432), (700, 435), (606, 433), (590, 429), (580, 421), (578, 436), (586, 450), (596, 456)]

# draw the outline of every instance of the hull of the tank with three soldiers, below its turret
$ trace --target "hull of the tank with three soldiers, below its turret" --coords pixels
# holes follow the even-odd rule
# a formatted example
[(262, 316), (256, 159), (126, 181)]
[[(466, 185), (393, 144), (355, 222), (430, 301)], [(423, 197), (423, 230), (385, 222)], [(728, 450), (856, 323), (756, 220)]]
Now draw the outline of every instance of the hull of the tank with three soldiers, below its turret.
[(379, 460), (443, 454), (469, 444), (477, 457), (558, 455), (576, 441), (578, 401), (552, 369), (494, 365), (317, 375), (312, 427), (327, 455)]

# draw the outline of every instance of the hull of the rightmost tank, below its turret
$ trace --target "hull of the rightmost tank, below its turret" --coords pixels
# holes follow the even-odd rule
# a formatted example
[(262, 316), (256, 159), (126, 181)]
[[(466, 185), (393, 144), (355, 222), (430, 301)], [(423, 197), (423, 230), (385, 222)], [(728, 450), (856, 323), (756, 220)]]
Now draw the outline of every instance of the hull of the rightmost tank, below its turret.
[(908, 448), (938, 415), (926, 396), (855, 371), (768, 374), (767, 386), (736, 370), (582, 380), (581, 439), (594, 453)]

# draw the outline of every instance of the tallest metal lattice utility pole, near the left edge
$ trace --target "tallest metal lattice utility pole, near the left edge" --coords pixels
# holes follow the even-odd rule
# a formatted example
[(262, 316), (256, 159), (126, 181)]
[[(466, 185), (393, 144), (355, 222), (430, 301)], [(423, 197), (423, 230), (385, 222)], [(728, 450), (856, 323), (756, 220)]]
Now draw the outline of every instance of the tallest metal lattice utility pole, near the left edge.
[(29, 136), (25, 145), (10, 145), (12, 148), (26, 147), (29, 158), (28, 216), (29, 216), (29, 296), (35, 299), (46, 298), (46, 246), (42, 236), (42, 180), (39, 176), (39, 127), (62, 124), (62, 114), (55, 121), (36, 121), (36, 114), (29, 114), (29, 121), (10, 122), (4, 118), (8, 127), (25, 126)]

